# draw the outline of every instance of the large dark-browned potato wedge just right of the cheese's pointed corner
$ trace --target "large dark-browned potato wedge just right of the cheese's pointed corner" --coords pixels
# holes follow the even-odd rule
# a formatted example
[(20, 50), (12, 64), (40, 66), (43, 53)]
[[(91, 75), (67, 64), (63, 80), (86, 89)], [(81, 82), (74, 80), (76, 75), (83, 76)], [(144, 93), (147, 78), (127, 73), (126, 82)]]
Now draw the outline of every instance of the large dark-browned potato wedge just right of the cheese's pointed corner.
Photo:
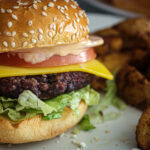
[(118, 95), (139, 109), (150, 105), (150, 82), (133, 66), (126, 65), (116, 76)]

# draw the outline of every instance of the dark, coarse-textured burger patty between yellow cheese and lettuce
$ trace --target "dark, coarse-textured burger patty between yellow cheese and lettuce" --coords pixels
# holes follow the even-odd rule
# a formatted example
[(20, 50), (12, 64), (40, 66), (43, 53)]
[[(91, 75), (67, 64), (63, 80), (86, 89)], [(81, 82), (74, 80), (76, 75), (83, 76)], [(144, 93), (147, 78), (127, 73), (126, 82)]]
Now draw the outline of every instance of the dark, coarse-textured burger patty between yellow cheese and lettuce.
[(18, 98), (24, 90), (31, 90), (42, 100), (81, 89), (90, 84), (94, 75), (84, 72), (0, 78), (0, 96)]

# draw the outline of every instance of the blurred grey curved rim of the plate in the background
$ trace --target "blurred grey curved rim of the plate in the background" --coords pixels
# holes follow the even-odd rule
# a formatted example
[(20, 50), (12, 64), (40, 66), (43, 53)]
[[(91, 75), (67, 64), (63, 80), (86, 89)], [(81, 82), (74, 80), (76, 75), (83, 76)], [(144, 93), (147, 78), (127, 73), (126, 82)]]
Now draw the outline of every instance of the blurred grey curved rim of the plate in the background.
[(122, 16), (125, 16), (125, 17), (140, 16), (140, 14), (138, 14), (138, 13), (133, 13), (133, 12), (130, 12), (130, 11), (126, 11), (126, 10), (123, 10), (123, 9), (116, 8), (112, 5), (108, 5), (107, 3), (104, 3), (101, 0), (83, 0), (83, 1), (89, 3), (90, 5), (96, 7), (100, 10), (105, 10), (105, 11), (108, 11), (110, 13), (122, 15)]

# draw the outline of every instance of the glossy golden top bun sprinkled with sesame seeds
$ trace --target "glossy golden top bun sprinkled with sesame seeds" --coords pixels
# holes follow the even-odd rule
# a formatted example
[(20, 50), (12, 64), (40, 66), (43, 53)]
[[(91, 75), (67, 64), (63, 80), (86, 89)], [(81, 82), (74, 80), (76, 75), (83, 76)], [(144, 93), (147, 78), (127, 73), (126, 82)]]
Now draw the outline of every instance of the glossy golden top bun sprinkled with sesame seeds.
[(73, 0), (0, 0), (0, 53), (87, 38), (88, 19)]

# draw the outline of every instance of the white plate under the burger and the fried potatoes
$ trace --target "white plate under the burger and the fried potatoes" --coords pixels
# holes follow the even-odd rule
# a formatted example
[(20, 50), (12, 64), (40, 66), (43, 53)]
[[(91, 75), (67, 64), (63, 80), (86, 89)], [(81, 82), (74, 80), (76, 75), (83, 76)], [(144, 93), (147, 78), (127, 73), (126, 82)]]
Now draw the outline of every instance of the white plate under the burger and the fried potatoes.
[[(123, 19), (97, 14), (88, 16), (91, 22), (91, 31), (111, 26)], [(135, 129), (140, 115), (140, 111), (128, 107), (121, 112), (119, 119), (98, 124), (93, 131), (81, 132), (78, 134), (77, 140), (86, 143), (85, 150), (131, 150), (136, 147)], [(11, 146), (1, 144), (0, 150), (76, 150), (77, 146), (71, 143), (70, 136), (71, 134), (68, 132), (67, 137), (57, 137), (43, 142)], [(94, 140), (95, 136), (99, 138), (99, 141)]]

